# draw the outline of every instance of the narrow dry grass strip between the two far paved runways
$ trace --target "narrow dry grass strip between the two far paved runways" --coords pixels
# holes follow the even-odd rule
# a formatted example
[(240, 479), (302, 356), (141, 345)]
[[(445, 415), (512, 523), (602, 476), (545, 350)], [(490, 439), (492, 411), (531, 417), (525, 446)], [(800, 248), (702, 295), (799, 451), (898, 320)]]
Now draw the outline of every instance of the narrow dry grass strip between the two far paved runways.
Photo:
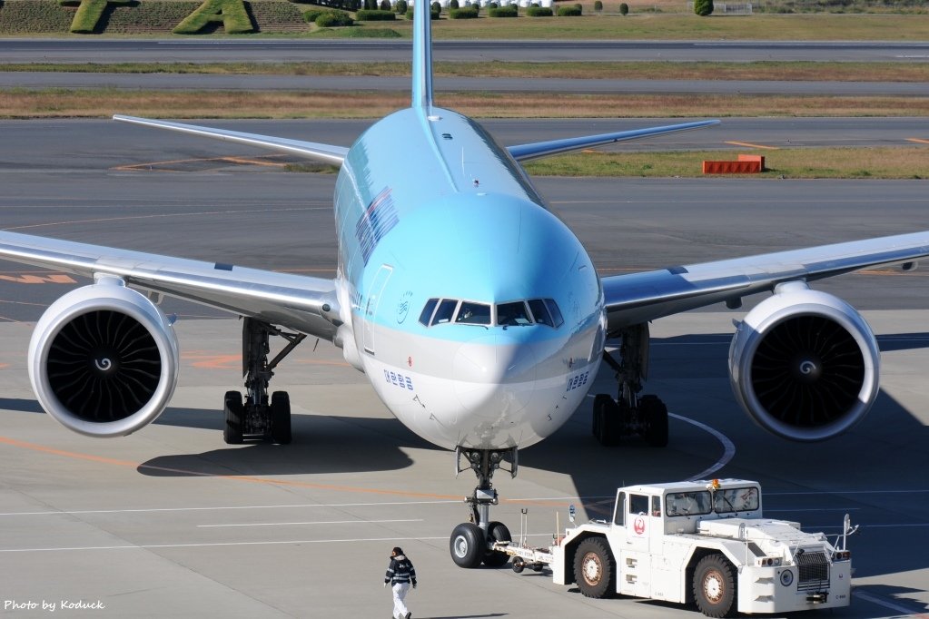
[[(20, 63), (0, 71), (177, 73), (212, 75), (410, 75), (409, 62)], [(901, 62), (438, 62), (438, 77), (624, 80), (775, 80), (811, 82), (929, 82), (929, 63)]]

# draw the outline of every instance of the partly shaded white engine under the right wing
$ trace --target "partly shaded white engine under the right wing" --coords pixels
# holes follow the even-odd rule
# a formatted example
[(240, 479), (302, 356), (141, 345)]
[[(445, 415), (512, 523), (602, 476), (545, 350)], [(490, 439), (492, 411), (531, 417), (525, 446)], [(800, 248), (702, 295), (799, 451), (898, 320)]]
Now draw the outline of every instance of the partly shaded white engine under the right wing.
[(782, 284), (739, 324), (729, 378), (739, 404), (765, 430), (796, 441), (831, 438), (874, 403), (881, 355), (848, 303)]

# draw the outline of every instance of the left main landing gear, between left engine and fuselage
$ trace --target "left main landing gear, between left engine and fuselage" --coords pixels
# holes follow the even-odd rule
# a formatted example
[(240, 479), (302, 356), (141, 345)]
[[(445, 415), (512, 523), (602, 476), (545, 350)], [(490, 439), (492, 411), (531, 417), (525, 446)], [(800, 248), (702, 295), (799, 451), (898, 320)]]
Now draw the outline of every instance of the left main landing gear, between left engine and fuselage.
[[(283, 350), (268, 361), (269, 340), (280, 335), (287, 340)], [(245, 401), (242, 393), (226, 392), (223, 409), (226, 425), (223, 439), (229, 445), (238, 445), (245, 439), (270, 440), (286, 445), (291, 442), (290, 396), (286, 392), (271, 393), (268, 401), (268, 384), (285, 356), (307, 336), (287, 333), (255, 318), (242, 321), (242, 377), (245, 379)]]

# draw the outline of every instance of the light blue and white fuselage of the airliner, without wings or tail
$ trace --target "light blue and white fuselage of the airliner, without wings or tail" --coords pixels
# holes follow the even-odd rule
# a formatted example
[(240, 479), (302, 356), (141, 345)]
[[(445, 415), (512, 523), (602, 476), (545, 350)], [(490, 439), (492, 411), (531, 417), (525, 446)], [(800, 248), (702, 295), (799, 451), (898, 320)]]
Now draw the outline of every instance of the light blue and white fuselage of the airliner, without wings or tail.
[(504, 148), (451, 110), (400, 110), (348, 150), (335, 196), (336, 342), (400, 421), (504, 449), (569, 419), (600, 363), (602, 289)]

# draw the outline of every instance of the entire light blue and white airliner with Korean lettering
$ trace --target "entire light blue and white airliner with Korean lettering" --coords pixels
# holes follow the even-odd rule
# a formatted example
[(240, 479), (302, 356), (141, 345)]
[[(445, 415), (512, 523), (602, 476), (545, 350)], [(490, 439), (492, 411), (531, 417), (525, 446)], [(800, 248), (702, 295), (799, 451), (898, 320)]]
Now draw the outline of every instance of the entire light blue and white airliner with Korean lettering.
[[(29, 346), (33, 391), (54, 419), (89, 436), (143, 428), (177, 384), (178, 342), (164, 296), (242, 316), (246, 393), (225, 394), (224, 440), (292, 440), (274, 369), (307, 337), (333, 342), (412, 432), (453, 450), (478, 478), (469, 522), (450, 537), (461, 567), (507, 561), (491, 521), (496, 471), (517, 474), (518, 450), (556, 432), (581, 405), (601, 362), (616, 393), (596, 394), (603, 445), (641, 435), (668, 443), (668, 411), (643, 394), (648, 324), (771, 292), (738, 324), (729, 370), (739, 404), (769, 432), (828, 439), (868, 412), (880, 355), (865, 320), (812, 282), (878, 265), (913, 268), (929, 232), (600, 277), (519, 161), (711, 126), (679, 123), (505, 148), (433, 97), (430, 20), (416, 11), (411, 106), (350, 147), (114, 116), (117, 121), (287, 152), (339, 166), (338, 265), (305, 277), (0, 232), (0, 259), (92, 277), (52, 303)], [(270, 355), (272, 337), (286, 342)], [(614, 355), (608, 342), (618, 342)], [(462, 465), (464, 460), (464, 467)]]

